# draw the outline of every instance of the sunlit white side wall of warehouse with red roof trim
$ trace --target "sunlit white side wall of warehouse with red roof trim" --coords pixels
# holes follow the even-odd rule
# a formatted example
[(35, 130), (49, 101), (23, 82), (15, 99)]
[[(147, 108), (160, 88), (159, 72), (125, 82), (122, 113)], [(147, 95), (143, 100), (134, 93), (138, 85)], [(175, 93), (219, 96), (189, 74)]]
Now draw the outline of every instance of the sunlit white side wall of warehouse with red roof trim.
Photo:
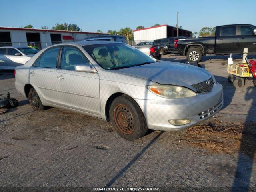
[(134, 31), (134, 41), (149, 41), (167, 37), (167, 26)]

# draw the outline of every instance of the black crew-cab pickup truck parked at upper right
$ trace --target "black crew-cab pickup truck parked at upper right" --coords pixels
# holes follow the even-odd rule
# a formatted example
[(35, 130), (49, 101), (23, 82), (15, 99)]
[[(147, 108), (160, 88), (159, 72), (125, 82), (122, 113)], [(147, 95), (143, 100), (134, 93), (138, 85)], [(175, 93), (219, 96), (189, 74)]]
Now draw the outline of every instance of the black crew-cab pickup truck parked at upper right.
[(190, 62), (199, 62), (205, 54), (240, 54), (244, 48), (248, 48), (248, 54), (256, 54), (256, 26), (217, 26), (215, 36), (178, 39), (176, 48)]

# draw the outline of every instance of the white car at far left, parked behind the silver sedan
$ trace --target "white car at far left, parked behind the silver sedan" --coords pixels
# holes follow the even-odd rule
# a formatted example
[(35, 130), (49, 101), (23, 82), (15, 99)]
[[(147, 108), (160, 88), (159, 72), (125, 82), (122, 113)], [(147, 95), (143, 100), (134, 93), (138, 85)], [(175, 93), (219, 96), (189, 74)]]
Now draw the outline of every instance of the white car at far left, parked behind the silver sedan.
[(16, 66), (25, 64), (37, 52), (37, 49), (30, 47), (0, 47), (0, 70), (15, 69)]

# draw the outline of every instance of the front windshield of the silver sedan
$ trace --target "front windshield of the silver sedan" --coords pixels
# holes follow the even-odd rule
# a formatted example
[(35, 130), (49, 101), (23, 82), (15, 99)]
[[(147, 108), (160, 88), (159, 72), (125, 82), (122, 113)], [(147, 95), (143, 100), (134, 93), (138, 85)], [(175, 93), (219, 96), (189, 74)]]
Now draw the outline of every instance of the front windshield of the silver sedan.
[(156, 62), (128, 44), (97, 44), (83, 48), (104, 69), (115, 70)]

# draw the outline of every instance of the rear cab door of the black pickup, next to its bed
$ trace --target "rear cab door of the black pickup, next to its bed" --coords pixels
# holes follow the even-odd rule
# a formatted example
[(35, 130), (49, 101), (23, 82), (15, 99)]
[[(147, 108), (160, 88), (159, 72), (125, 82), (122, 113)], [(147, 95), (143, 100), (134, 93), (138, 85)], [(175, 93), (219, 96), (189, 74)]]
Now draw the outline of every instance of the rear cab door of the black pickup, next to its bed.
[(216, 53), (239, 53), (238, 26), (220, 27), (216, 34)]

